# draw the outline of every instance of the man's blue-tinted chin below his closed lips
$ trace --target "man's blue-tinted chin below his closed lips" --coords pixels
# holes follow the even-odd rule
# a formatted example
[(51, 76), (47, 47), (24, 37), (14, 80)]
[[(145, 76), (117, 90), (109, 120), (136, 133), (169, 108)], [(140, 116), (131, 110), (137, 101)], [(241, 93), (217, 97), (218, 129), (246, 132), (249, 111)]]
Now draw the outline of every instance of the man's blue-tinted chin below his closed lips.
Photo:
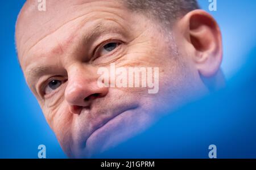
[[(140, 113), (140, 114), (139, 114)], [(135, 137), (152, 125), (152, 117), (139, 111), (125, 111), (95, 130), (75, 158), (97, 158), (97, 155)]]

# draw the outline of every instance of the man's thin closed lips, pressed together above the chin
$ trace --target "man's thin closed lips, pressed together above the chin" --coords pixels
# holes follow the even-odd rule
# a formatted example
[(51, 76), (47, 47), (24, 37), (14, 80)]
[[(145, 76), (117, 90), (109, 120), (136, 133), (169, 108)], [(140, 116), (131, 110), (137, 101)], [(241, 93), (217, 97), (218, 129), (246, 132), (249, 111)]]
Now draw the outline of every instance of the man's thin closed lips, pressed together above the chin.
[(130, 107), (129, 109), (122, 109), (121, 111), (119, 111), (119, 112), (113, 114), (112, 116), (107, 117), (107, 118), (104, 118), (104, 120), (101, 120), (101, 121), (99, 121), (99, 122), (93, 124), (93, 127), (95, 127), (95, 128), (93, 128), (92, 132), (91, 132), (91, 133), (88, 135), (88, 137), (85, 139), (85, 142), (84, 142), (85, 147), (86, 147), (86, 143), (87, 143), (88, 139), (89, 139), (94, 133), (96, 133), (98, 130), (104, 128), (104, 126), (106, 126), (106, 125), (108, 124), (108, 122), (114, 120), (116, 117), (120, 116), (122, 113), (125, 113), (125, 112), (127, 112), (127, 111), (131, 111), (131, 110), (136, 109), (136, 108), (137, 108), (137, 106), (135, 106), (135, 107)]

